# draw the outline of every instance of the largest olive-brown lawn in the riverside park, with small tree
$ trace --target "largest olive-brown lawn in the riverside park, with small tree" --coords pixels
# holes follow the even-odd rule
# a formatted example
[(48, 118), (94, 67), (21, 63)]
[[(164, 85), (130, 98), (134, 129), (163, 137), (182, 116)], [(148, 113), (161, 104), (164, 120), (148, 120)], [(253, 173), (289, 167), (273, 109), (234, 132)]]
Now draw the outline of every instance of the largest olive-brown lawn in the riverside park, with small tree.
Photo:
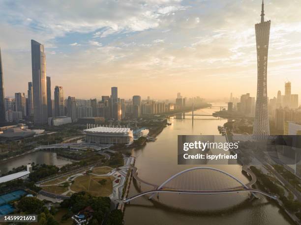
[[(98, 181), (102, 179), (107, 180), (104, 185), (98, 183)], [(113, 180), (113, 177), (102, 177), (87, 174), (75, 178), (74, 183), (70, 186), (70, 189), (74, 192), (85, 191), (95, 197), (106, 197), (112, 194)]]

